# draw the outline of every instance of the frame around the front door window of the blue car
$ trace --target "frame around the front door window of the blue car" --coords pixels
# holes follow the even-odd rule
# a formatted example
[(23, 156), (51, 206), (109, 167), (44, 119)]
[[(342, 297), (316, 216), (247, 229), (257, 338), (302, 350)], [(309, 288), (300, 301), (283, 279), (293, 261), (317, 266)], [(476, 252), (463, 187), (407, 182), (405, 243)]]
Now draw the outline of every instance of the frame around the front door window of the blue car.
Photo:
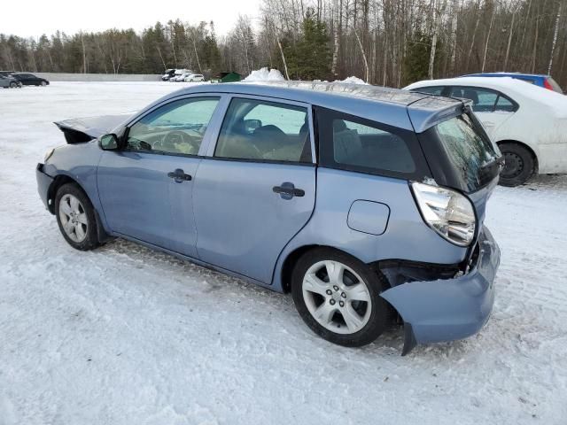
[(146, 152), (146, 153), (151, 153), (152, 155), (167, 155), (167, 156), (182, 156), (182, 157), (191, 157), (191, 158), (200, 158), (205, 156), (205, 152), (208, 148), (208, 145), (211, 143), (211, 136), (213, 133), (213, 126), (216, 123), (216, 119), (219, 116), (220, 112), (221, 112), (221, 104), (223, 103), (223, 101), (225, 101), (225, 95), (223, 93), (191, 93), (190, 95), (183, 95), (183, 96), (179, 96), (179, 97), (173, 97), (170, 99), (165, 100), (164, 102), (161, 102), (159, 104), (155, 104), (153, 105), (150, 109), (148, 109), (147, 111), (144, 111), (144, 113), (142, 115), (137, 115), (135, 118), (133, 118), (132, 120), (129, 120), (125, 125), (124, 125), (124, 129), (122, 130), (121, 134), (120, 134), (120, 144), (122, 145), (122, 147), (120, 148), (120, 151), (126, 151), (124, 148), (126, 147), (126, 143), (128, 141), (128, 133), (130, 132), (130, 128), (132, 128), (134, 125), (136, 125), (136, 123), (140, 120), (143, 120), (146, 116), (148, 116), (149, 114), (151, 114), (152, 112), (156, 112), (159, 108), (163, 107), (163, 106), (167, 106), (167, 104), (173, 104), (174, 102), (179, 102), (180, 100), (185, 100), (185, 99), (191, 99), (191, 98), (203, 98), (203, 97), (216, 97), (219, 99), (219, 102), (217, 103), (216, 107), (214, 108), (214, 112), (213, 112), (213, 116), (211, 117), (211, 120), (209, 121), (209, 125), (206, 127), (206, 131), (205, 131), (205, 135), (203, 135), (203, 140), (201, 142), (201, 145), (199, 146), (198, 149), (198, 153), (197, 155), (190, 155), (190, 154), (175, 154), (175, 153), (158, 153), (158, 152)]

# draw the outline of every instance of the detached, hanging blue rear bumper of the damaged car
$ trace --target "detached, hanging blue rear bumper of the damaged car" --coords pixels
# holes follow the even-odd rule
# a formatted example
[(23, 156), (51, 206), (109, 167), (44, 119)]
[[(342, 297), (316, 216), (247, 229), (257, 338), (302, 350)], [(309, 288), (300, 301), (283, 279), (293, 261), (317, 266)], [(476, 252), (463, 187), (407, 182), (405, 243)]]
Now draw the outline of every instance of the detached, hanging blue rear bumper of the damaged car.
[(408, 282), (381, 297), (400, 313), (405, 342), (402, 355), (416, 344), (453, 341), (474, 335), (488, 321), (500, 249), (487, 228), (478, 238), (478, 256), (470, 272), (453, 279)]

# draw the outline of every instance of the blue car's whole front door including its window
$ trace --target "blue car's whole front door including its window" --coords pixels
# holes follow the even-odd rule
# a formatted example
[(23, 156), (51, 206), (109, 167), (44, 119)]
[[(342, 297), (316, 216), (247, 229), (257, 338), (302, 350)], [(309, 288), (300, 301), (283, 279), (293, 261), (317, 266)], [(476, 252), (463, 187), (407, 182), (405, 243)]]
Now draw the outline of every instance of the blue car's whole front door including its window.
[(192, 192), (201, 144), (219, 97), (160, 106), (128, 127), (120, 151), (105, 151), (97, 183), (113, 232), (197, 257)]

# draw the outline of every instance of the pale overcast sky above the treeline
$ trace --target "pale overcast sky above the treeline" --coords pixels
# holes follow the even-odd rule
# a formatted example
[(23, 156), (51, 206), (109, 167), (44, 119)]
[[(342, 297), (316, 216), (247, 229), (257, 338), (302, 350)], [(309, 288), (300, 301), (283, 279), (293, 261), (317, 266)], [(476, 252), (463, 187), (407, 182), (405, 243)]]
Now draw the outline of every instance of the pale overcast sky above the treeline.
[[(13, 6), (12, 2), (4, 6), (8, 4)], [(0, 33), (38, 37), (57, 30), (74, 34), (132, 27), (141, 31), (158, 20), (179, 18), (191, 24), (214, 20), (217, 35), (225, 35), (238, 14), (250, 16), (255, 24), (260, 0), (28, 0), (21, 6), (19, 12), (0, 12)]]

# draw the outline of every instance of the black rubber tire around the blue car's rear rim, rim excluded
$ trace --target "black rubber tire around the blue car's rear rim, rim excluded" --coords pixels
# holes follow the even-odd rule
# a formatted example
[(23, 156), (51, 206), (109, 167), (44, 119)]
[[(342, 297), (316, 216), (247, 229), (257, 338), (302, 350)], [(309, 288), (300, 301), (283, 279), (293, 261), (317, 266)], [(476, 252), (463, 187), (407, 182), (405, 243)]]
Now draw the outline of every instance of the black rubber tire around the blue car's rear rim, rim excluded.
[[(341, 334), (333, 332), (323, 327), (309, 312), (303, 296), (303, 279), (310, 267), (325, 260), (338, 261), (346, 267), (350, 267), (361, 277), (362, 283), (364, 283), (369, 290), (371, 302), (366, 303), (366, 308), (370, 308), (369, 320), (355, 333)], [(315, 334), (322, 336), (322, 338), (333, 344), (347, 347), (360, 347), (361, 345), (370, 344), (376, 340), (376, 338), (384, 332), (384, 329), (390, 322), (390, 306), (384, 301), (384, 298), (379, 296), (380, 292), (385, 289), (384, 283), (384, 280), (373, 272), (369, 266), (345, 252), (331, 248), (315, 248), (312, 251), (307, 251), (296, 263), (293, 273), (291, 274), (291, 295), (301, 319), (305, 321), (307, 326), (311, 328)], [(322, 301), (322, 303), (326, 302), (326, 300)]]

